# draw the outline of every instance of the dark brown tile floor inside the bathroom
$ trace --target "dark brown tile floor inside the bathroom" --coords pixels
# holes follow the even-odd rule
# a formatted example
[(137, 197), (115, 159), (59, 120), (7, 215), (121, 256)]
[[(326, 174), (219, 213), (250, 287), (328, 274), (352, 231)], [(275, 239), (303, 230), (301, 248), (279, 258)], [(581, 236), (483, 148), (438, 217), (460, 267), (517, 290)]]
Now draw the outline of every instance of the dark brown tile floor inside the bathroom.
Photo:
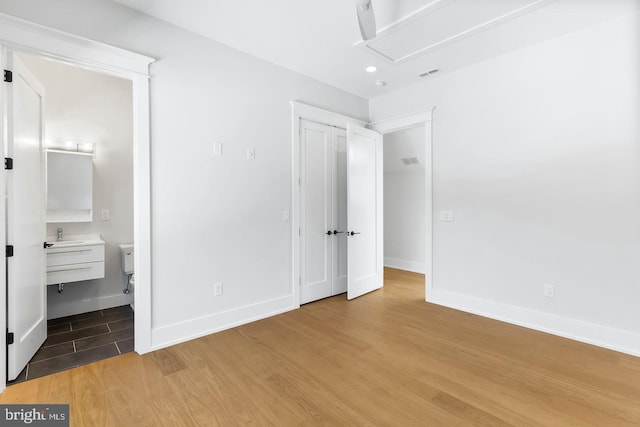
[(9, 384), (133, 351), (133, 310), (128, 305), (47, 322), (47, 340)]

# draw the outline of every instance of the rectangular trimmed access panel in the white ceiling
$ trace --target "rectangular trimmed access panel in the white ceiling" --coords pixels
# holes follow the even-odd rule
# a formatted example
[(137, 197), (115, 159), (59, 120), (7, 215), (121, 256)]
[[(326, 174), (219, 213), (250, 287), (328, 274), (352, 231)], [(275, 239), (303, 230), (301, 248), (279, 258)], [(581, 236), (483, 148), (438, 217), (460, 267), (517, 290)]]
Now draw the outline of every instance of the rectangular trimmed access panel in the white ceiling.
[(382, 30), (364, 45), (392, 62), (403, 62), (453, 43), (550, 0), (438, 0)]

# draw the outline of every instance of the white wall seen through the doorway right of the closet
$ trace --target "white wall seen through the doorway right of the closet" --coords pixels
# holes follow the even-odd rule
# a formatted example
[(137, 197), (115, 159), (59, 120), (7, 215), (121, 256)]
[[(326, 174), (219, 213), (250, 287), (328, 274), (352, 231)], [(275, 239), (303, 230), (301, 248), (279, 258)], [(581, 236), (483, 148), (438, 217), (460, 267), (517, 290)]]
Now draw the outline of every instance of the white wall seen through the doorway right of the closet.
[[(425, 271), (424, 126), (384, 135), (384, 265)], [(405, 165), (415, 157), (419, 164)]]

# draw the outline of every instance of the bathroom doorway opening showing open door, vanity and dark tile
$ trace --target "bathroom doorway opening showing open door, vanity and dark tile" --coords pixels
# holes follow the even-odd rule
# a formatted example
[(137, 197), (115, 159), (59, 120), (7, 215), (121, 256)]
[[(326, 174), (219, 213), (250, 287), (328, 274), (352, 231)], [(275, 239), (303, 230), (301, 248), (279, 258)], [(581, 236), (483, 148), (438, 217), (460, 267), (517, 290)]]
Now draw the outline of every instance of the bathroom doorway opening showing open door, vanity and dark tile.
[[(134, 241), (134, 119), (131, 80), (41, 55), (8, 55), (16, 76), (8, 111), (15, 120), (22, 117), (16, 122), (22, 128), (43, 129), (39, 136), (31, 132), (39, 147), (34, 167), (43, 179), (25, 182), (24, 175), (15, 173), (19, 169), (8, 177), (7, 241), (16, 247), (39, 246), (42, 252), (34, 259), (18, 252), (7, 263), (8, 328), (16, 336), (8, 348), (7, 380), (13, 384), (133, 351), (132, 272), (123, 268), (120, 245)], [(28, 91), (18, 90), (23, 84), (19, 73), (29, 77), (24, 84), (41, 88), (39, 113), (29, 115), (20, 99)], [(42, 123), (29, 125), (36, 119)], [(17, 125), (9, 123), (10, 131), (12, 126)], [(10, 135), (8, 146), (13, 155), (24, 157), (25, 150), (16, 145), (35, 145), (18, 138)], [(24, 167), (22, 159), (18, 165)], [(16, 200), (15, 185), (26, 190), (21, 199), (34, 200)], [(24, 240), (29, 236), (14, 230), (20, 225), (12, 218), (26, 216), (25, 208), (40, 210), (34, 218), (42, 235), (32, 236), (33, 245)], [(34, 229), (33, 221), (29, 228)], [(34, 270), (43, 257), (44, 277), (38, 273), (26, 283), (24, 275), (14, 274), (20, 266)], [(36, 293), (44, 304), (25, 300)], [(20, 340), (31, 323), (42, 333)]]

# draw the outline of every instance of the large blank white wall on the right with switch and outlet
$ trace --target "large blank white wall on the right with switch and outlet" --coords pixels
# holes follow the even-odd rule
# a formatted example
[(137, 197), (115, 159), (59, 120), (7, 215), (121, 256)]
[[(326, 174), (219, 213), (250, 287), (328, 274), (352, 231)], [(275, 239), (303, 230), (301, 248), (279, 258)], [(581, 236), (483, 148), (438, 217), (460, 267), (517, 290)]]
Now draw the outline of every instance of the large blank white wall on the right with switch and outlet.
[(428, 298), (640, 354), (639, 51), (631, 14), (371, 101), (436, 106)]

